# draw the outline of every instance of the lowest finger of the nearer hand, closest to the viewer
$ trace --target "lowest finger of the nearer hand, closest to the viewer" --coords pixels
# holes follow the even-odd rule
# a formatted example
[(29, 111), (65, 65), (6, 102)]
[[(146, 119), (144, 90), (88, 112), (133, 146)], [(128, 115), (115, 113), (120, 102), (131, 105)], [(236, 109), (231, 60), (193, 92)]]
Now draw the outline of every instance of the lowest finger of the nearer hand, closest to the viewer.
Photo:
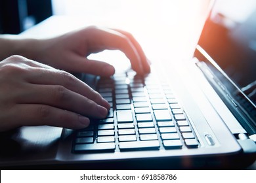
[(15, 116), (12, 118), (16, 118), (16, 116), (19, 116), (19, 118), (12, 119), (14, 123), (10, 124), (12, 125), (11, 128), (23, 125), (51, 125), (70, 129), (81, 129), (90, 124), (89, 118), (85, 116), (47, 105), (16, 105), (14, 114)]

